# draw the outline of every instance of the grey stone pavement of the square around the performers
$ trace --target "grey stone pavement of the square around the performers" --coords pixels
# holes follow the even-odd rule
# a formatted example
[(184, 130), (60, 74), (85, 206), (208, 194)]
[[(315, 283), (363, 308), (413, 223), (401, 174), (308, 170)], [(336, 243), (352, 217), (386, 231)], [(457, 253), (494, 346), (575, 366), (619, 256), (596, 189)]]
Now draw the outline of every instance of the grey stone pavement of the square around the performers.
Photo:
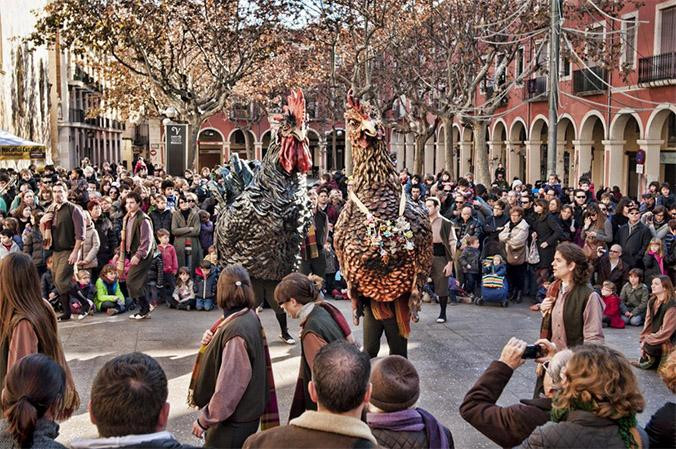
[[(334, 304), (350, 316), (347, 313), (349, 302), (336, 301)], [(437, 307), (425, 305), (420, 323), (412, 326), (409, 341), (409, 358), (421, 376), (419, 406), (431, 411), (451, 429), (455, 447), (495, 447), (460, 417), (458, 407), (489, 362), (499, 357), (509, 337), (518, 336), (529, 342), (537, 339), (540, 315), (530, 312), (526, 304), (507, 309), (463, 304), (449, 307), (446, 324), (436, 324)], [(200, 336), (218, 315), (217, 311), (184, 312), (161, 307), (153, 312), (152, 319), (141, 322), (131, 321), (126, 315), (107, 317), (98, 314), (84, 321), (60, 324), (59, 331), (82, 406), (62, 424), (59, 441), (67, 443), (75, 437), (96, 435), (87, 414), (89, 390), (96, 372), (118, 354), (142, 351), (159, 360), (169, 379), (171, 414), (168, 430), (182, 442), (199, 444), (190, 433), (195, 412), (186, 405), (186, 393)], [(279, 327), (271, 310), (264, 310), (261, 316), (270, 343), (280, 413), (286, 421), (298, 373), (300, 347), (279, 341)], [(297, 321), (290, 319), (289, 323), (292, 334), (297, 335)], [(361, 341), (361, 326), (354, 329), (354, 334)], [(627, 357), (636, 358), (638, 335), (637, 328), (606, 329), (606, 342)], [(383, 338), (380, 355), (386, 354)], [(650, 415), (666, 400), (673, 400), (673, 396), (655, 372), (636, 372), (647, 402), (646, 410), (639, 416), (639, 422), (645, 424)], [(530, 397), (534, 378), (530, 362), (520, 367), (499, 403), (506, 405)]]

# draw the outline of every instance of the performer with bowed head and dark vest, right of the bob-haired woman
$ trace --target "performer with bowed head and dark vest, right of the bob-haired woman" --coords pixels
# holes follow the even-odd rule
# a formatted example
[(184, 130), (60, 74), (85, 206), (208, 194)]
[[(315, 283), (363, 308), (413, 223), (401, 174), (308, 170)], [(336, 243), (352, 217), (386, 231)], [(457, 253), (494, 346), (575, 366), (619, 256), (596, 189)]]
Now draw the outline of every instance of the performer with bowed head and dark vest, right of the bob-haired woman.
[(291, 273), (275, 288), (275, 300), (292, 318), (300, 320), (301, 359), (296, 390), (291, 402), (289, 420), (306, 410), (317, 410), (310, 398), (308, 384), (312, 365), (321, 348), (335, 340), (354, 342), (352, 331), (340, 310), (324, 302), (320, 291), (322, 279)]

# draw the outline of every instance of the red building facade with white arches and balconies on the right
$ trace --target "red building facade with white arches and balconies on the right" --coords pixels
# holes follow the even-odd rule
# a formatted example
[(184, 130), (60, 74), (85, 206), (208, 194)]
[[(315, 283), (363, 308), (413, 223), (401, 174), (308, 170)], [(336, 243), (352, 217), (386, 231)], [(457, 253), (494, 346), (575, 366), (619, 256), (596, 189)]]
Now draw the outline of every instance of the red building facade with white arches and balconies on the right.
[[(619, 71), (607, 72), (591, 61), (560, 61), (557, 173), (569, 185), (588, 174), (596, 186), (618, 186), (632, 196), (651, 181), (676, 184), (676, 0), (628, 7), (621, 20), (596, 23), (590, 36), (621, 36), (619, 62), (633, 71), (623, 80)], [(537, 44), (524, 43), (512, 75), (536, 57)], [(488, 127), (491, 173), (502, 162), (509, 179), (546, 179), (547, 113), (546, 76), (536, 73), (509, 92)], [(439, 129), (428, 142), (427, 173), (444, 167), (443, 133)], [(456, 172), (465, 174), (473, 170), (472, 132), (458, 122), (453, 134)], [(392, 147), (400, 168), (413, 166), (413, 136), (394, 134)], [(638, 150), (645, 151), (642, 167)]]

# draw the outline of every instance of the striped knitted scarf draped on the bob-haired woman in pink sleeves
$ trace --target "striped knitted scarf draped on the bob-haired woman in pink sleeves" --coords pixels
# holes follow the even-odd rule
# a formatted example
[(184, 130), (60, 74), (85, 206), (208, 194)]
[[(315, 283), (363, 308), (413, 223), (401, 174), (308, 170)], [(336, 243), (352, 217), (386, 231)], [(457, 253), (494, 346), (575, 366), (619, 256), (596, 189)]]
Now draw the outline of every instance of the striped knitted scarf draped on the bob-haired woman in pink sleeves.
[[(233, 313), (227, 313), (223, 318), (219, 318), (211, 325), (209, 331), (212, 334), (216, 334), (218, 330), (225, 325)], [(258, 318), (258, 315), (256, 315)], [(258, 318), (260, 322), (260, 318)], [(279, 407), (277, 403), (277, 391), (275, 390), (275, 378), (272, 373), (272, 361), (270, 359), (270, 349), (268, 348), (268, 341), (265, 336), (265, 330), (261, 324), (261, 337), (263, 338), (263, 347), (265, 349), (265, 372), (267, 377), (268, 384), (268, 399), (265, 404), (265, 409), (261, 415), (261, 430), (271, 429), (273, 427), (279, 426)], [(197, 357), (195, 358), (195, 365), (192, 369), (192, 375), (190, 377), (190, 386), (188, 387), (188, 405), (190, 407), (197, 407), (193, 400), (193, 392), (197, 385), (197, 380), (199, 379), (200, 371), (202, 370), (204, 353), (207, 350), (208, 345), (200, 344), (200, 348), (197, 351)]]

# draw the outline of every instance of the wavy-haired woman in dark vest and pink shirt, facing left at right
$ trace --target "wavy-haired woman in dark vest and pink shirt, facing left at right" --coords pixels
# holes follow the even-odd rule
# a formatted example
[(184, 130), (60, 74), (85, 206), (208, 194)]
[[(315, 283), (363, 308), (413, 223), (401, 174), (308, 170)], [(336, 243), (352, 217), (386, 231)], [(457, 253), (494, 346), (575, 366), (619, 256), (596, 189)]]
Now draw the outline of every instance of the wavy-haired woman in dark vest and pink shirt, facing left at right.
[(589, 283), (590, 264), (582, 249), (564, 242), (554, 254), (554, 277), (540, 305), (540, 337), (561, 350), (603, 343), (603, 302)]

